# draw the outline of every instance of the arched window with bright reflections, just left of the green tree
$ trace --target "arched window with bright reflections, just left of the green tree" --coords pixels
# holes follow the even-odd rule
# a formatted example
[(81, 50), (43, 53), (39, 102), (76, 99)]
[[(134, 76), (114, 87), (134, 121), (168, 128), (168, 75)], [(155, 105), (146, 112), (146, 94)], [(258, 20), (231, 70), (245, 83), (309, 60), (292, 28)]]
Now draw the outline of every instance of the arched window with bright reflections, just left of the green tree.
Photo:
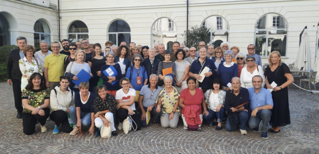
[[(157, 19), (152, 26), (151, 45), (155, 43), (166, 44), (166, 49), (172, 49), (172, 42), (177, 40), (177, 27), (173, 20), (169, 18)], [(169, 43), (171, 42), (171, 43)]]

